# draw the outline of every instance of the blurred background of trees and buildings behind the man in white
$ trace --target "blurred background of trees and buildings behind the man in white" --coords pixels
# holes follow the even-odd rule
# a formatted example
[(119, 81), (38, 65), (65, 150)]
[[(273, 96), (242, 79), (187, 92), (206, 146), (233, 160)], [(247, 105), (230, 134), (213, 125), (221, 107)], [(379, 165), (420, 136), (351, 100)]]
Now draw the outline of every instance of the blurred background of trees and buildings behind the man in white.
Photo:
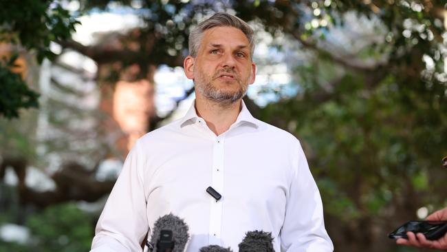
[(252, 114), (305, 149), (336, 251), (447, 204), (444, 0), (0, 1), (0, 251), (88, 251), (135, 140), (193, 102), (187, 37), (256, 31)]

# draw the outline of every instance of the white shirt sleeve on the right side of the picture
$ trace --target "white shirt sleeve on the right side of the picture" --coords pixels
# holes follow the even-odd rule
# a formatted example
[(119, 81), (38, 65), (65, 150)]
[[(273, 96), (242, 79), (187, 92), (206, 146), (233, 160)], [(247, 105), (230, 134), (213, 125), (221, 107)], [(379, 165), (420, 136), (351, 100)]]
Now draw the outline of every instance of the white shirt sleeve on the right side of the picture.
[(294, 178), (281, 229), (281, 250), (329, 252), (334, 246), (325, 229), (323, 203), (301, 145), (294, 149)]

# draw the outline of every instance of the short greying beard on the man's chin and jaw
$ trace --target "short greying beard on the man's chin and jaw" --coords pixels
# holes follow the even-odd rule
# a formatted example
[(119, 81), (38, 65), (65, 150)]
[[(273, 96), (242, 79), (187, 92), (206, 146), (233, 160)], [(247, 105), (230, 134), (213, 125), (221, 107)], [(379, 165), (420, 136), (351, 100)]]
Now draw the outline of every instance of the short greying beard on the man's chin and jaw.
[(196, 85), (197, 92), (205, 96), (208, 100), (214, 101), (222, 106), (228, 106), (236, 101), (239, 101), (246, 95), (247, 86), (241, 85), (241, 88), (237, 92), (223, 92), (213, 87), (211, 83), (205, 85)]

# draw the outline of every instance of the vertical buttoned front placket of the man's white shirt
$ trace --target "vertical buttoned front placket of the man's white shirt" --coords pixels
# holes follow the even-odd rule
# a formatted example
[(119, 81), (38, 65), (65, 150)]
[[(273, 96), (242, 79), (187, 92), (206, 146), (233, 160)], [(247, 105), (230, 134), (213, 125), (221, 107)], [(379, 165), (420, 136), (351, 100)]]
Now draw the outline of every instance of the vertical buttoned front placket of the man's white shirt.
[(223, 195), (223, 146), (225, 138), (217, 136), (212, 146), (212, 185), (221, 194), (220, 200), (210, 199), (209, 244), (221, 244), (222, 202)]

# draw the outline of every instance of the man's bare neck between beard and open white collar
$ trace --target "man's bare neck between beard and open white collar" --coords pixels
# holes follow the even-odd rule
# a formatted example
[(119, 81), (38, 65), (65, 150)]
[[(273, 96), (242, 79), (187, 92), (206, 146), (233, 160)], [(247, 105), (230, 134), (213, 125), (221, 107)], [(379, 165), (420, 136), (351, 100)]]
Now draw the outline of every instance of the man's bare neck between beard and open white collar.
[(241, 108), (241, 100), (226, 105), (208, 101), (207, 99), (196, 98), (195, 100), (197, 115), (204, 118), (206, 125), (216, 136), (226, 132), (235, 123)]

